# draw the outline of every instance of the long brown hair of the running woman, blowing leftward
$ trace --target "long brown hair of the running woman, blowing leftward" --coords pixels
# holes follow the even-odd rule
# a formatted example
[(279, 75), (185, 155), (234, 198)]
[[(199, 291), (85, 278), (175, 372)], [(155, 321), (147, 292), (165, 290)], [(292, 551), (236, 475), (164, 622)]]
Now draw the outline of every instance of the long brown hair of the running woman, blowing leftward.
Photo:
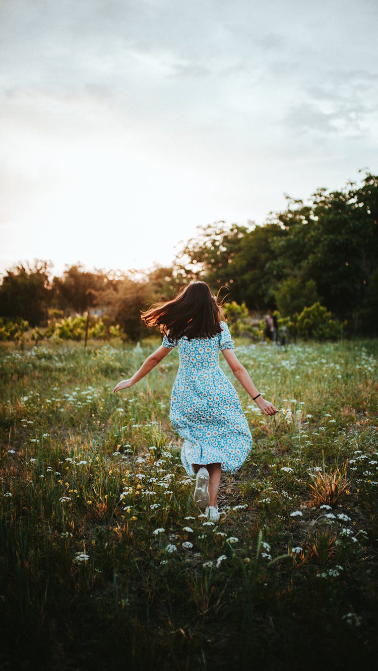
[(155, 303), (140, 316), (146, 326), (158, 326), (169, 342), (183, 335), (188, 340), (212, 338), (222, 331), (222, 307), (206, 282), (190, 282), (174, 299)]

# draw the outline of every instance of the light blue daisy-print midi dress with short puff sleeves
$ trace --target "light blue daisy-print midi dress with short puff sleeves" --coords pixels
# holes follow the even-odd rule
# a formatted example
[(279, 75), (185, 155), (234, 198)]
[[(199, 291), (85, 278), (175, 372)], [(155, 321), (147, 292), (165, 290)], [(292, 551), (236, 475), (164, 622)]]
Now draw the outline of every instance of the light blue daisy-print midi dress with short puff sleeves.
[(252, 435), (234, 386), (219, 364), (220, 350), (234, 342), (226, 322), (213, 338), (183, 335), (162, 345), (179, 349), (180, 365), (171, 395), (170, 419), (183, 438), (181, 462), (189, 475), (192, 464), (220, 462), (222, 470), (236, 472), (252, 448)]

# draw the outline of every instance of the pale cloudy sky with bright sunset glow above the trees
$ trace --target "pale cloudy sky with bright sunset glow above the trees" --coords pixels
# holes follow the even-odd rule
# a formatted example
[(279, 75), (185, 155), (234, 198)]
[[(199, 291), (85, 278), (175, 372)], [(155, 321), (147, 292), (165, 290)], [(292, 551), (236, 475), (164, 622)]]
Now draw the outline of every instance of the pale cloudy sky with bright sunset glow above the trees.
[(0, 0), (0, 272), (169, 265), (378, 170), (375, 0)]

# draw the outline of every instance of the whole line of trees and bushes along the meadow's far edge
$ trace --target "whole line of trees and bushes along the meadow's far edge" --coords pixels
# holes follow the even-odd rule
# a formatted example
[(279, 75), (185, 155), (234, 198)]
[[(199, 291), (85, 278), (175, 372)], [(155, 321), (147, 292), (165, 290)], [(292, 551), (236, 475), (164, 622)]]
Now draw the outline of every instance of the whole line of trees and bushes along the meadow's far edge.
[(89, 272), (77, 264), (50, 276), (51, 264), (17, 264), (0, 285), (0, 317), (34, 327), (70, 313), (101, 313), (131, 340), (146, 335), (140, 309), (193, 279), (203, 279), (229, 301), (263, 315), (293, 317), (320, 303), (350, 335), (377, 333), (378, 176), (340, 191), (318, 189), (264, 225), (218, 221), (199, 227), (171, 267)]

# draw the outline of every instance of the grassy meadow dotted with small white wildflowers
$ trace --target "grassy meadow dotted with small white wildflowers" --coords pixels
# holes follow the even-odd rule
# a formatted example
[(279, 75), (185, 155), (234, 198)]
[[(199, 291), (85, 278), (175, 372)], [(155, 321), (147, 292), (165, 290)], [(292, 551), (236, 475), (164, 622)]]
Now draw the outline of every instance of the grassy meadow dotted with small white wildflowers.
[(254, 448), (193, 503), (160, 344), (1, 347), (0, 668), (348, 669), (377, 655), (377, 340), (236, 341)]

